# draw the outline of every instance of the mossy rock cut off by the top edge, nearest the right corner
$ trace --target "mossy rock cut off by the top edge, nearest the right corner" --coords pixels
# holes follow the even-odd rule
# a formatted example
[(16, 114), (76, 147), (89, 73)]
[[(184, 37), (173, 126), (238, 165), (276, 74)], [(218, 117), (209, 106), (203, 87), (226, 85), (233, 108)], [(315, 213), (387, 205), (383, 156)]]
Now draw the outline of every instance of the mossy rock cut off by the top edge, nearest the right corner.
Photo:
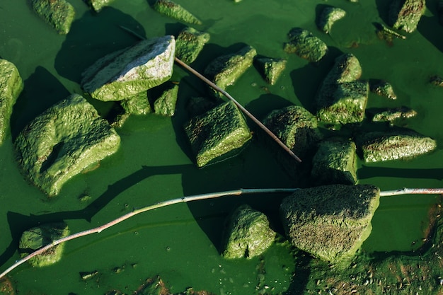
[(389, 10), (389, 21), (393, 28), (413, 33), (425, 9), (425, 0), (393, 0)]

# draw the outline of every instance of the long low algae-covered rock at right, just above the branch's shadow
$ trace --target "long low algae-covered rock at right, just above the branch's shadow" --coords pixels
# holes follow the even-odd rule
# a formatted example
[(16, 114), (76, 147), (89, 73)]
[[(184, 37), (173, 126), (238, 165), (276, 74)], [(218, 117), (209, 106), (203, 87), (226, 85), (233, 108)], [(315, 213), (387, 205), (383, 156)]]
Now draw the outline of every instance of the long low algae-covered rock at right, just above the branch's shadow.
[(437, 142), (410, 129), (395, 129), (359, 134), (357, 146), (364, 161), (379, 162), (427, 154), (437, 147)]

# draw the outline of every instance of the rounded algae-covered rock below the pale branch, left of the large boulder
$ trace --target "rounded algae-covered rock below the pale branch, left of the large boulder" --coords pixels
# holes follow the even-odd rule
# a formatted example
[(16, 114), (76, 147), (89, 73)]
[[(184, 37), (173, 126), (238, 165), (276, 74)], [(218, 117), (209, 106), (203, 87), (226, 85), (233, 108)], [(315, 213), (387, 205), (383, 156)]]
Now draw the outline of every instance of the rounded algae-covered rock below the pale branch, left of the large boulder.
[(229, 218), (224, 258), (253, 258), (272, 245), (276, 236), (267, 217), (248, 205), (238, 207)]

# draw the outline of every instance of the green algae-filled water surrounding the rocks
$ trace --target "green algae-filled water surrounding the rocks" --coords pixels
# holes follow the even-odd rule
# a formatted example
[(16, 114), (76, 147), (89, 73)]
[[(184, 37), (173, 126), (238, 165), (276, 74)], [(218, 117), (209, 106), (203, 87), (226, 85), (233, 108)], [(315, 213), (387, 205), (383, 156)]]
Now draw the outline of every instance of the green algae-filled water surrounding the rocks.
[[(146, 37), (177, 35), (184, 27), (153, 11), (146, 0), (115, 0), (100, 13), (91, 13), (81, 0), (69, 2), (76, 9), (76, 21), (66, 36), (57, 35), (35, 16), (25, 0), (0, 3), (0, 57), (16, 64), (25, 81), (11, 119), (11, 136), (0, 146), (0, 270), (18, 260), (16, 248), (21, 233), (39, 223), (64, 220), (74, 233), (110, 221), (132, 208), (183, 195), (293, 185), (294, 180), (257, 140), (236, 158), (201, 170), (195, 168), (181, 126), (186, 120), (186, 100), (204, 95), (206, 88), (176, 67), (173, 79), (181, 80), (176, 117), (130, 118), (117, 129), (122, 138), (117, 154), (101, 161), (97, 170), (69, 181), (58, 197), (47, 199), (21, 175), (11, 137), (69, 93), (81, 93), (81, 71), (98, 57), (137, 42), (119, 25)], [(368, 108), (413, 108), (418, 116), (408, 120), (408, 127), (436, 139), (439, 146), (443, 144), (443, 88), (428, 83), (430, 76), (443, 75), (443, 27), (435, 16), (437, 1), (427, 1), (418, 31), (408, 35), (407, 40), (393, 40), (391, 45), (376, 37), (372, 25), (384, 21), (387, 1), (176, 2), (202, 19), (204, 24), (197, 29), (211, 34), (193, 64), (197, 70), (202, 71), (214, 57), (234, 52), (244, 44), (255, 47), (258, 54), (288, 59), (287, 69), (275, 86), (267, 85), (251, 68), (227, 89), (254, 115), (263, 117), (270, 110), (290, 104), (313, 111), (313, 96), (333, 59), (340, 52), (352, 52), (362, 64), (363, 79), (386, 79), (398, 96), (388, 101), (371, 95)], [(347, 11), (330, 35), (320, 33), (314, 23), (316, 11), (323, 4)], [(286, 34), (294, 27), (311, 30), (328, 44), (330, 52), (321, 62), (309, 64), (283, 52)], [(108, 104), (91, 103), (103, 114), (110, 109)], [(442, 187), (442, 154), (437, 149), (412, 161), (359, 163), (359, 183), (371, 183), (381, 190)], [(91, 201), (81, 202), (83, 195), (91, 196)], [(263, 260), (226, 261), (219, 255), (224, 219), (232, 209), (251, 204), (269, 214), (279, 229), (275, 213), (281, 198), (226, 197), (142, 214), (103, 233), (70, 241), (56, 265), (40, 269), (18, 267), (11, 272), (11, 280), (23, 294), (105, 294), (112, 289), (129, 294), (156, 274), (175, 293), (193, 287), (215, 294), (257, 294), (265, 285), (269, 294), (284, 293), (291, 286), (295, 268), (292, 249), (287, 245), (273, 245)], [(429, 224), (428, 211), (437, 202), (435, 196), (381, 199), (372, 234), (363, 250), (372, 253), (417, 249)], [(263, 267), (264, 279), (260, 271)], [(122, 271), (117, 273), (117, 269)], [(100, 275), (86, 282), (80, 279), (79, 272), (93, 270)]]

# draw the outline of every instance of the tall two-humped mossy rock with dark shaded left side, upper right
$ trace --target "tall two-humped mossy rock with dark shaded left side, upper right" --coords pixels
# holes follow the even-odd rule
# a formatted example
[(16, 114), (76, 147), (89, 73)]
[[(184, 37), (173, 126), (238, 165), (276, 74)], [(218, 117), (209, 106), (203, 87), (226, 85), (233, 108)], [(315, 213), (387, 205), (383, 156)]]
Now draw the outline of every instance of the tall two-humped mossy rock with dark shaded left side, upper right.
[(369, 83), (359, 81), (362, 68), (353, 54), (335, 59), (316, 96), (318, 120), (331, 124), (362, 122)]

